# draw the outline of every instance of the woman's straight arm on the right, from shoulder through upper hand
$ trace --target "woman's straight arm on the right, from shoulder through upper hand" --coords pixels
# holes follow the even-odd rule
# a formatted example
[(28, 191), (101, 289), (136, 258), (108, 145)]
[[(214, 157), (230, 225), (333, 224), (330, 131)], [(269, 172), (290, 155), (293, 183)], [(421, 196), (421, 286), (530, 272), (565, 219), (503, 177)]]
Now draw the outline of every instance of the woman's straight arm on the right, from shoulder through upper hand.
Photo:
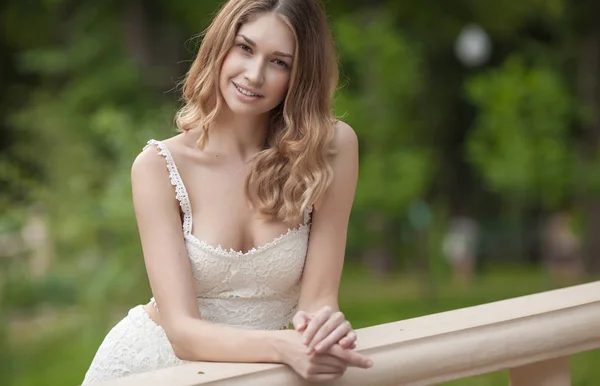
[(349, 323), (339, 312), (338, 291), (344, 264), (348, 221), (358, 179), (358, 139), (354, 130), (338, 121), (332, 146), (336, 152), (331, 160), (333, 181), (315, 204), (313, 211), (310, 244), (298, 306), (302, 313), (313, 318), (308, 327), (299, 329), (304, 331), (303, 335), (311, 347), (338, 327), (340, 328), (336, 334), (339, 337), (334, 339), (335, 337), (331, 336), (326, 342), (327, 346), (351, 331)]

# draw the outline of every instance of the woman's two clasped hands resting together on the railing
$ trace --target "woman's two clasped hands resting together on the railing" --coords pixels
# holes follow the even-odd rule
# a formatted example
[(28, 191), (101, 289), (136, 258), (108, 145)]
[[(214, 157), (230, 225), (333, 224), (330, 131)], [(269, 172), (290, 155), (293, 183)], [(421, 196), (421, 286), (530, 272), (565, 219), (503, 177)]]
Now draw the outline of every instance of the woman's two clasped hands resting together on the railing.
[(295, 355), (286, 362), (303, 378), (332, 381), (341, 377), (348, 366), (367, 369), (373, 365), (369, 358), (353, 351), (356, 332), (342, 312), (329, 306), (314, 314), (299, 311), (292, 323), (297, 344)]

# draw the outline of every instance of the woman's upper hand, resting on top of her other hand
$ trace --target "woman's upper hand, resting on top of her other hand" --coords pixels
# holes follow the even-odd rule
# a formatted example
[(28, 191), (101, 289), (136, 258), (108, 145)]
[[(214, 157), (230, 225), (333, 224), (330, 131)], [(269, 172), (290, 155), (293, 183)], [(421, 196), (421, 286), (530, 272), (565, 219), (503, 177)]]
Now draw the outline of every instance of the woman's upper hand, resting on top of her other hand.
[(338, 343), (342, 348), (356, 348), (356, 333), (342, 312), (334, 312), (329, 306), (309, 315), (298, 311), (293, 324), (302, 334), (302, 342), (307, 346), (306, 353), (323, 353)]

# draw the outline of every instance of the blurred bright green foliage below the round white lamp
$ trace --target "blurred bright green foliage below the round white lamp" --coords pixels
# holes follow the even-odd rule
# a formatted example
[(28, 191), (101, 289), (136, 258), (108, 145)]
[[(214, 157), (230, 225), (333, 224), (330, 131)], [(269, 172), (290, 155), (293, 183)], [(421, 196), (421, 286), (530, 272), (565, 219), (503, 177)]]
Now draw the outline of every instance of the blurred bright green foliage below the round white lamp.
[(548, 209), (562, 204), (574, 186), (574, 101), (560, 74), (509, 58), (474, 77), (467, 91), (480, 111), (468, 155), (489, 186)]

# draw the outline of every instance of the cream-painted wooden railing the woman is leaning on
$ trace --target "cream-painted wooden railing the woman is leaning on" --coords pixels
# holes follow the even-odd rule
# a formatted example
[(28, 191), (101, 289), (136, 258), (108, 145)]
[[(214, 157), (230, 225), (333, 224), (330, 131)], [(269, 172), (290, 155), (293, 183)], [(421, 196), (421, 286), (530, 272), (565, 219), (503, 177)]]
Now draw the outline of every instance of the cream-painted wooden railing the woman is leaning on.
[[(374, 366), (349, 368), (333, 385), (432, 385), (510, 369), (511, 386), (567, 386), (571, 384), (569, 355), (600, 348), (600, 282), (382, 324), (357, 333), (357, 350), (371, 357)], [(110, 383), (307, 384), (283, 365), (205, 362)]]

